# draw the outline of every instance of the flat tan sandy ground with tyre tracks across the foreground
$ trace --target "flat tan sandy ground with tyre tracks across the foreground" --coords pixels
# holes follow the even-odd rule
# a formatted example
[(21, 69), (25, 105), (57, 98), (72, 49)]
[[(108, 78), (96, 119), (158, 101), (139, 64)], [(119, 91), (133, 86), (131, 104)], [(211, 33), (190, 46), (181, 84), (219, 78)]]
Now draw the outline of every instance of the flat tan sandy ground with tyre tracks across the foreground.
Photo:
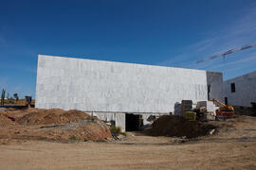
[(1, 169), (256, 169), (256, 118), (241, 116), (218, 134), (182, 142), (129, 133), (124, 141), (0, 144)]

